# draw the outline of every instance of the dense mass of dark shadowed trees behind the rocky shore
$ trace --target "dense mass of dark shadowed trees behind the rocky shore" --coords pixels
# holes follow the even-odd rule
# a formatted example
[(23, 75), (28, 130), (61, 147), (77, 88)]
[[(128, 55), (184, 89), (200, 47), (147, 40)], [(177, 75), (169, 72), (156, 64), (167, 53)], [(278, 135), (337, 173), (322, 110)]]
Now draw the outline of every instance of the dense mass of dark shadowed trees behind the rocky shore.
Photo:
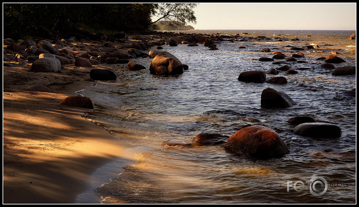
[(147, 30), (156, 4), (3, 4), (4, 38)]

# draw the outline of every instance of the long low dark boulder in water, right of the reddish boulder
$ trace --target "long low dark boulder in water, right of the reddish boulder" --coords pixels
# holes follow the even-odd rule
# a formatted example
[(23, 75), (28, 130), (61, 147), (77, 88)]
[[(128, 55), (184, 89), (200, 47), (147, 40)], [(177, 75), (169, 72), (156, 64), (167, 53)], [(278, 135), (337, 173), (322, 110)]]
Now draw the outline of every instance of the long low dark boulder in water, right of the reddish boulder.
[(313, 138), (336, 138), (341, 136), (341, 129), (327, 123), (303, 123), (294, 128), (294, 134)]

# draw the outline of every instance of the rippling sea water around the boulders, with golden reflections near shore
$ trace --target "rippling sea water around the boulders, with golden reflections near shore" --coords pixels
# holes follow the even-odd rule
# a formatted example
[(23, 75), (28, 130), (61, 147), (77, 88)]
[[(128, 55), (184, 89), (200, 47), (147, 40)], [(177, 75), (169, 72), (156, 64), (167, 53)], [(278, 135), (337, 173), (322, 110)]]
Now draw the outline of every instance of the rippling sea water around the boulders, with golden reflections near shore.
[[(165, 77), (152, 75), (148, 69), (129, 71), (127, 64), (106, 65), (116, 73), (117, 80), (96, 82), (80, 92), (95, 106), (85, 116), (87, 119), (117, 139), (149, 149), (138, 153), (137, 161), (108, 183), (94, 189), (102, 203), (356, 202), (356, 98), (342, 94), (356, 88), (356, 76), (333, 76), (333, 69), (322, 68), (324, 60), (317, 60), (336, 51), (346, 62), (335, 67), (356, 66), (356, 43), (348, 39), (355, 31), (181, 32), (242, 37), (217, 43), (219, 50), (208, 50), (203, 45), (163, 45), (162, 51), (175, 55), (189, 70)], [(240, 41), (257, 36), (269, 39)], [(298, 40), (291, 41), (294, 38)], [(319, 48), (295, 51), (288, 47), (304, 45)], [(241, 72), (282, 66), (250, 60), (273, 57), (271, 52), (261, 52), (263, 48), (288, 57), (301, 52), (306, 62), (290, 62), (290, 68), (310, 69), (291, 75), (285, 71), (267, 75), (267, 79), (286, 77), (285, 85), (238, 81)], [(132, 59), (147, 68), (151, 60)], [(286, 109), (261, 108), (261, 93), (268, 87), (287, 93), (297, 104)], [(288, 123), (295, 116), (338, 125), (342, 135), (335, 139), (295, 135), (295, 126)], [(222, 145), (163, 145), (166, 141), (191, 143), (202, 132), (230, 136), (248, 125), (274, 129), (290, 153), (279, 159), (254, 160), (230, 154)], [(311, 191), (315, 186), (310, 181), (318, 177), (328, 187), (322, 195)]]

